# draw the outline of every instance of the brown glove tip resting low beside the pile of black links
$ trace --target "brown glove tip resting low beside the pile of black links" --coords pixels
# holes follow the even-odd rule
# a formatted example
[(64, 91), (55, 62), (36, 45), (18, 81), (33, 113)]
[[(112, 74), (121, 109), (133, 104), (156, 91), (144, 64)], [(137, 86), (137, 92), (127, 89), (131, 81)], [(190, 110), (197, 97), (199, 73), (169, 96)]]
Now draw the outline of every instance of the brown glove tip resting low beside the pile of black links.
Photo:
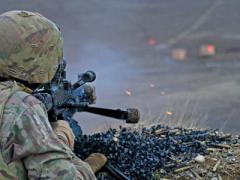
[(84, 161), (87, 162), (92, 171), (96, 173), (106, 164), (107, 157), (101, 153), (92, 153)]

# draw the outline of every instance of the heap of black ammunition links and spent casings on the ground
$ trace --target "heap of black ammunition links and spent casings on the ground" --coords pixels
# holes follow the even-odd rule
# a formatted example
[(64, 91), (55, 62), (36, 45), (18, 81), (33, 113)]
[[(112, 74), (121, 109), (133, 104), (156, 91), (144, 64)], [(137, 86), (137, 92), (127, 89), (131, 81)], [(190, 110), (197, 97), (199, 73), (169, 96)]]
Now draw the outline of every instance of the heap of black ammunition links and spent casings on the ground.
[[(208, 148), (227, 148), (228, 144), (238, 141), (218, 130), (157, 125), (141, 130), (120, 128), (79, 136), (75, 142), (75, 153), (84, 159), (90, 153), (100, 152), (130, 179), (153, 179), (156, 172), (164, 177), (189, 169), (189, 164), (198, 155), (209, 154)], [(102, 173), (97, 178), (109, 179)]]

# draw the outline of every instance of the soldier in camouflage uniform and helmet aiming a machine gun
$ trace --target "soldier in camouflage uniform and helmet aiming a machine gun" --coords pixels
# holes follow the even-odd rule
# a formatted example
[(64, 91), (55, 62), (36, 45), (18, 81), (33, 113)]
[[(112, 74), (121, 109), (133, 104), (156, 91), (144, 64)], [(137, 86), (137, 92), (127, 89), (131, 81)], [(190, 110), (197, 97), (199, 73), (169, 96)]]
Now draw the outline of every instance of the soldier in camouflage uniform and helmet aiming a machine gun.
[(62, 58), (63, 39), (53, 22), (27, 11), (0, 15), (0, 179), (96, 179), (106, 163), (102, 154), (78, 159), (67, 122), (51, 126), (31, 95), (51, 81)]

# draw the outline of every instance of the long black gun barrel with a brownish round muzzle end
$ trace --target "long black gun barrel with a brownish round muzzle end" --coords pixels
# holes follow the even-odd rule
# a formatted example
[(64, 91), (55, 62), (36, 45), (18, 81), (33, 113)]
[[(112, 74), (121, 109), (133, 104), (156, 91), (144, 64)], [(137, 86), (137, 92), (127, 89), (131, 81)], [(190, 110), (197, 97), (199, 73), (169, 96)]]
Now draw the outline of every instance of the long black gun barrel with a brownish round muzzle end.
[(140, 113), (138, 109), (129, 108), (127, 110), (121, 109), (106, 109), (99, 107), (90, 107), (90, 106), (82, 106), (78, 104), (68, 104), (65, 105), (68, 108), (78, 108), (80, 111), (89, 112), (93, 114), (99, 114), (102, 116), (112, 117), (116, 119), (126, 120), (126, 123), (138, 123), (140, 119)]

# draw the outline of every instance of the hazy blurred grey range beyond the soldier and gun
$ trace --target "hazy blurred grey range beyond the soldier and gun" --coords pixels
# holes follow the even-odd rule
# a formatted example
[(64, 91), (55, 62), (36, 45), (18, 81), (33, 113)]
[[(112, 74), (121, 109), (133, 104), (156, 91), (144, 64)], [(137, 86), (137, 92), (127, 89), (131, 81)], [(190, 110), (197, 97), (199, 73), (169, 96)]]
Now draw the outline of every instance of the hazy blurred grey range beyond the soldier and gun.
[[(94, 70), (96, 106), (137, 107), (141, 125), (240, 132), (239, 0), (1, 0), (59, 25), (68, 78)], [(87, 113), (85, 133), (122, 125)]]

